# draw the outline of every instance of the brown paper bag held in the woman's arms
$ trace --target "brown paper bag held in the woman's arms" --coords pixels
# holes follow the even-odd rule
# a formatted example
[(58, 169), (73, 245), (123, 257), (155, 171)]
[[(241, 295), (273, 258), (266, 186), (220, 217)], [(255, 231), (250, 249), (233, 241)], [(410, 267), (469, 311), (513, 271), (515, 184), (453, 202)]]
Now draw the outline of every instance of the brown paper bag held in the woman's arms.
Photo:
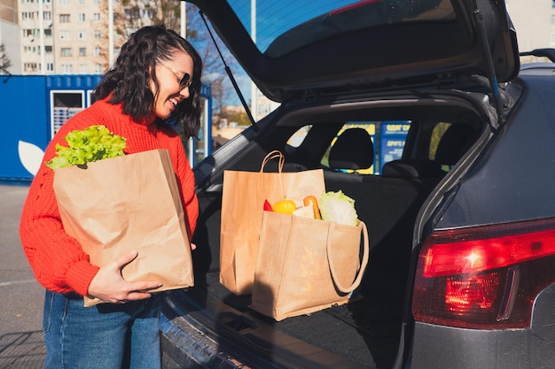
[[(54, 192), (66, 233), (103, 266), (124, 253), (126, 281), (160, 281), (153, 292), (193, 285), (192, 255), (168, 150), (59, 168)], [(85, 297), (85, 306), (98, 300)]]

